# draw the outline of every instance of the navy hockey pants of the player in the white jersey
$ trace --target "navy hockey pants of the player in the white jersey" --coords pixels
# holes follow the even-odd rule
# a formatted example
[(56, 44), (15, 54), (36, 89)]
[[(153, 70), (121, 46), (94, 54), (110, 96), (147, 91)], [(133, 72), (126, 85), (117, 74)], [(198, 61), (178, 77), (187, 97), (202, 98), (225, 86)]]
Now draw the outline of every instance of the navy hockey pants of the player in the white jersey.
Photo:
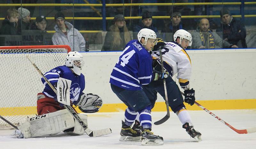
[[(171, 107), (172, 111), (176, 113), (178, 110), (180, 110), (180, 108), (185, 107), (183, 104), (183, 97), (180, 93), (178, 85), (173, 81), (172, 77), (168, 77), (165, 79), (165, 81), (169, 106)], [(151, 101), (152, 107), (155, 105), (157, 93), (159, 93), (165, 100), (163, 79), (151, 81), (148, 85), (143, 86), (143, 91)]]

